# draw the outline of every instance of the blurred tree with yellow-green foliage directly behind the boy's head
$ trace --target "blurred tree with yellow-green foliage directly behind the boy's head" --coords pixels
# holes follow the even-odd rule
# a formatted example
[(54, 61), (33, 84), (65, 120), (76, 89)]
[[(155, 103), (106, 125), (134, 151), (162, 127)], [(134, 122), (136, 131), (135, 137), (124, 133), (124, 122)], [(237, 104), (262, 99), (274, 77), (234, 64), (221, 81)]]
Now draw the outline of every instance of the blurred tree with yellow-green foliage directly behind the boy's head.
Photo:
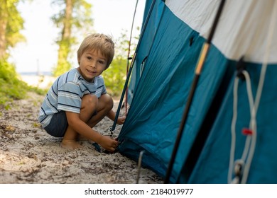
[(53, 69), (54, 76), (60, 76), (72, 68), (70, 54), (76, 45), (78, 33), (85, 31), (93, 26), (92, 5), (85, 0), (55, 0), (53, 5), (61, 9), (53, 17), (53, 23), (61, 29), (57, 43), (58, 64)]

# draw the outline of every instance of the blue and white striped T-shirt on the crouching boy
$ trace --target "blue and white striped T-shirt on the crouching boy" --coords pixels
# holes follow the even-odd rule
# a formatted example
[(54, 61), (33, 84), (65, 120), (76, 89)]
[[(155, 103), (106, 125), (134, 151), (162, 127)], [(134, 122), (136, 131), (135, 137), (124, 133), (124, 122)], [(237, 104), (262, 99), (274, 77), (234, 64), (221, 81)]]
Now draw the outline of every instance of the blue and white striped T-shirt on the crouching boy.
[(45, 128), (53, 115), (60, 111), (80, 113), (82, 97), (86, 94), (97, 95), (107, 93), (102, 76), (94, 78), (89, 83), (81, 76), (77, 69), (72, 69), (58, 77), (43, 100), (38, 121)]

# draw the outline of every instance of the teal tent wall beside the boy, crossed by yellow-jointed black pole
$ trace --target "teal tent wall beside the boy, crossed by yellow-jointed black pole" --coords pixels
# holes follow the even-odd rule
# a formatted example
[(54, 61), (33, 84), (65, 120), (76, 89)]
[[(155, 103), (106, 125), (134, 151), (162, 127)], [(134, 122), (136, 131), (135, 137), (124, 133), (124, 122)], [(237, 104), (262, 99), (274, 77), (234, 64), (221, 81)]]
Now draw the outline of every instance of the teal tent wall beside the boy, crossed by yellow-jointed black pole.
[[(146, 151), (148, 156), (143, 160), (143, 165), (155, 170), (162, 177), (165, 176), (173, 151), (185, 100), (204, 41), (167, 7), (164, 8), (126, 123), (119, 134), (119, 152), (136, 160), (139, 151)], [(207, 59), (210, 69), (204, 71), (206, 77), (200, 79), (196, 93), (199, 100), (207, 100), (195, 100), (192, 104), (172, 182), (176, 182), (178, 178), (183, 161), (188, 156), (189, 148), (212, 101), (212, 95), (217, 91), (222, 78), (220, 74), (225, 71), (224, 62), (227, 60), (214, 47), (211, 54), (214, 56)]]

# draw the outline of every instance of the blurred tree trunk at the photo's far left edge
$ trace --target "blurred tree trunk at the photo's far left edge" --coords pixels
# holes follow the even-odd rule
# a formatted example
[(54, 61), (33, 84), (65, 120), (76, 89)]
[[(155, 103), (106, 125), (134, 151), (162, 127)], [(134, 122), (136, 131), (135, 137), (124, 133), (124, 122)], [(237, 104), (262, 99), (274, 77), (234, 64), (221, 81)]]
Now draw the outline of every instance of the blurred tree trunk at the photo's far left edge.
[(0, 4), (0, 59), (6, 57), (6, 26), (8, 24), (7, 1), (2, 0)]

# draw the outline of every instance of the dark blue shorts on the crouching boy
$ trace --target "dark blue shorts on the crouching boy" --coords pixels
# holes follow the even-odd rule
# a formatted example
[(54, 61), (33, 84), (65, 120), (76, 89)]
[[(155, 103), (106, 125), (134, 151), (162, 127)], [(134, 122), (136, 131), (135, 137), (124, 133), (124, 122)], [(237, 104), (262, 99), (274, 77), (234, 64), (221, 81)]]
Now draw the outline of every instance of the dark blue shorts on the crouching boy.
[(55, 137), (63, 137), (68, 127), (65, 111), (55, 113), (50, 123), (44, 128), (48, 134)]

